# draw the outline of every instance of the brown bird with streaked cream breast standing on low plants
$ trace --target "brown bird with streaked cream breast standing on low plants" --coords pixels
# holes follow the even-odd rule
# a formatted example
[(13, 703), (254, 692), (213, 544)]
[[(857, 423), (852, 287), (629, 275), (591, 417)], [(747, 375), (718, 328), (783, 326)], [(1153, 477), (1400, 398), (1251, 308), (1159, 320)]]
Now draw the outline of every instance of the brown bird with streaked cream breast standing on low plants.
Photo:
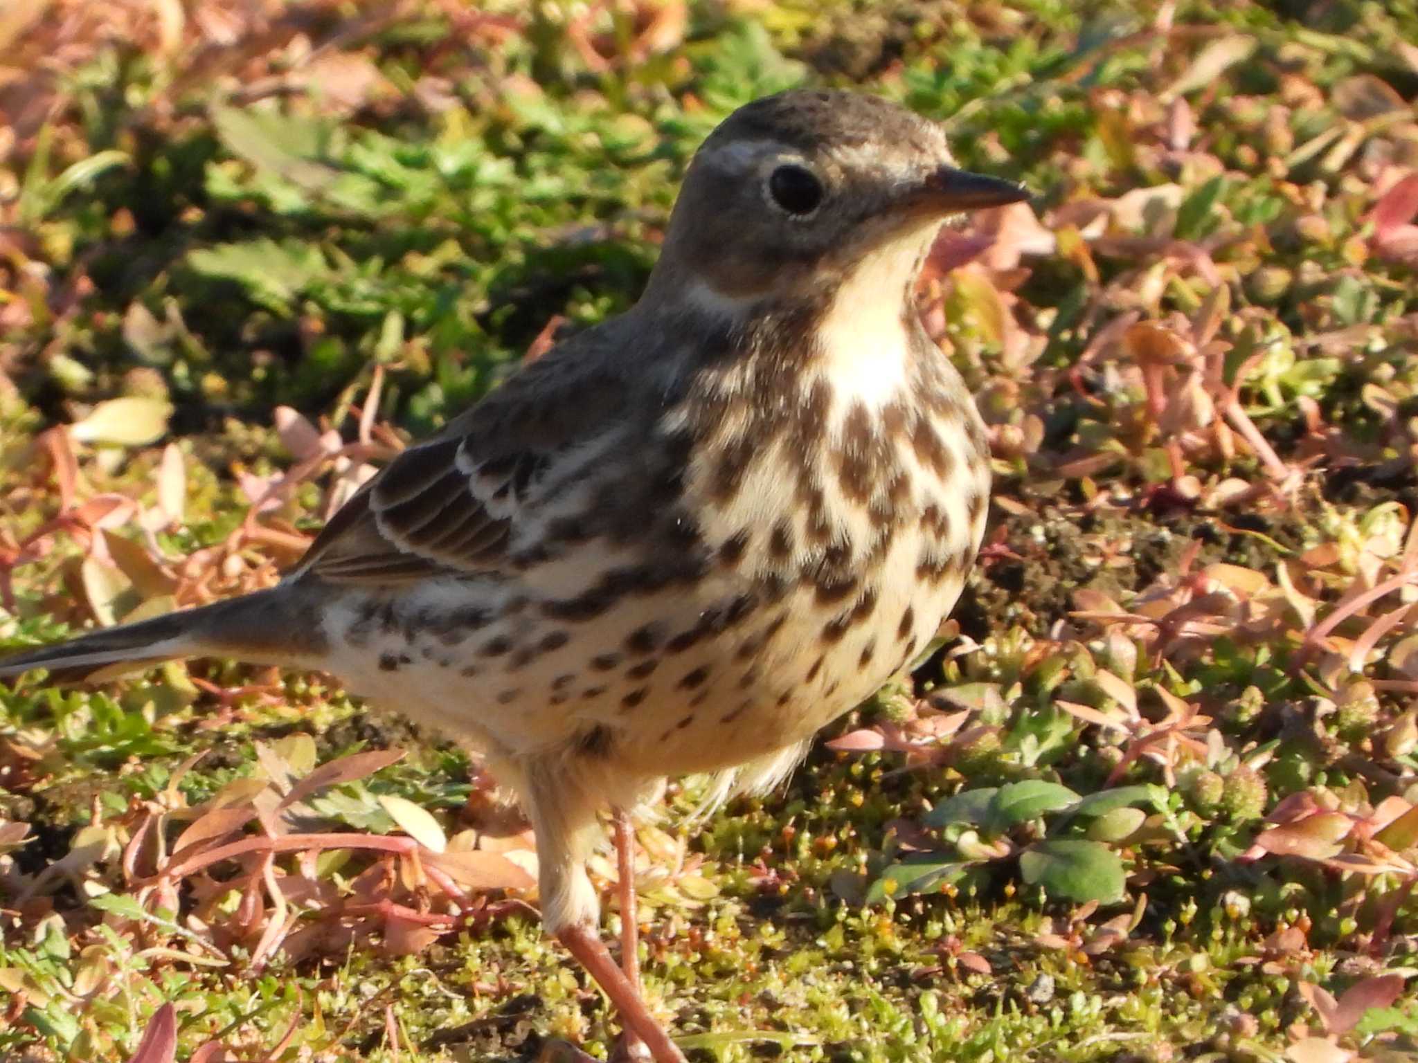
[[(682, 1063), (641, 995), (631, 815), (666, 777), (771, 789), (949, 615), (990, 448), (915, 283), (947, 218), (1027, 197), (888, 99), (749, 102), (695, 152), (634, 306), (393, 458), (277, 585), (0, 677), (233, 658), (471, 746), (532, 823), (545, 928), (615, 1006), (623, 1056)], [(607, 815), (620, 964), (586, 869)]]

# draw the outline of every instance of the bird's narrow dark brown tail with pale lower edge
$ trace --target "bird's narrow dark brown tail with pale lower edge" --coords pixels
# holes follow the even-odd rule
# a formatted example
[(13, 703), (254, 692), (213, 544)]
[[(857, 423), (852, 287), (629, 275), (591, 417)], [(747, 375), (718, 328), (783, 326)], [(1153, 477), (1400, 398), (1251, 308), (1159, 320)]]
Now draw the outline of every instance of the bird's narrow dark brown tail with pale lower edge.
[[(37, 646), (0, 658), (0, 679), (44, 668), (51, 682), (67, 683), (106, 672), (112, 665), (156, 665), (187, 656), (233, 656), (257, 663), (285, 663), (298, 658), (299, 639), (285, 646), (274, 632), (291, 626), (285, 587), (245, 594), (196, 609), (121, 624), (79, 635), (68, 642)], [(281, 621), (285, 621), (284, 624)]]

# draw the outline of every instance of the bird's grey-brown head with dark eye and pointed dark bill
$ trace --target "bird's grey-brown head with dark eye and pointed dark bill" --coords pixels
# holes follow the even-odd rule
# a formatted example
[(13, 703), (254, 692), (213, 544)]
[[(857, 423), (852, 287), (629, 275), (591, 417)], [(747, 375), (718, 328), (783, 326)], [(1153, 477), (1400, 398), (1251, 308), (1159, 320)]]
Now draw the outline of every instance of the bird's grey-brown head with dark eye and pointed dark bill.
[(908, 285), (944, 218), (1027, 197), (956, 169), (940, 125), (896, 103), (781, 92), (735, 111), (699, 147), (651, 286), (659, 300), (735, 313), (822, 298), (864, 268)]

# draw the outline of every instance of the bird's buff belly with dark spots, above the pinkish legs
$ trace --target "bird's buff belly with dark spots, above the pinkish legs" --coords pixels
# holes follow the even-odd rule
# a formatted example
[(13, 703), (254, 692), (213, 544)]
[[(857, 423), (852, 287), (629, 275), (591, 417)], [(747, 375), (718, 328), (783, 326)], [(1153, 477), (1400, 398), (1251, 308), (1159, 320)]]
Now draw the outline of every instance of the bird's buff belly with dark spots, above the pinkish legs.
[(493, 755), (716, 771), (803, 741), (920, 652), (963, 567), (922, 578), (919, 553), (913, 536), (895, 543), (865, 581), (869, 601), (824, 604), (810, 581), (725, 571), (574, 621), (501, 585), (420, 584), (328, 614), (330, 670)]

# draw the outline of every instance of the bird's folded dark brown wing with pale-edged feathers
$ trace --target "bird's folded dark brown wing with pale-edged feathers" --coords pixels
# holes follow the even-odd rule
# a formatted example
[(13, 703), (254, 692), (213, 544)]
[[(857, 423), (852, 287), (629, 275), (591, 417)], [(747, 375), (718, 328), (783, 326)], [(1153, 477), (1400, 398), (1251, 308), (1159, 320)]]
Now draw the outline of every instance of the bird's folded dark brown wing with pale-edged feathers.
[(625, 410), (614, 340), (603, 326), (559, 344), (400, 454), (335, 513), (296, 574), (397, 584), (496, 571), (532, 488)]

